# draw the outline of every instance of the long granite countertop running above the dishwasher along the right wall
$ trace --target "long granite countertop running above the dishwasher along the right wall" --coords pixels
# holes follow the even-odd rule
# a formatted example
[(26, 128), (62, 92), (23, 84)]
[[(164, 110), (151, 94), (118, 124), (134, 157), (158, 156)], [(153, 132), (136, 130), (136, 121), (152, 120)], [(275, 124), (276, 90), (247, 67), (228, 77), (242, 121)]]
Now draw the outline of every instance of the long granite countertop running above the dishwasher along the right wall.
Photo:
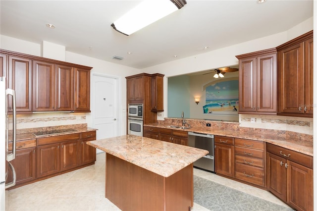
[(232, 130), (224, 130), (224, 129), (211, 129), (210, 131), (206, 131), (201, 128), (189, 128), (189, 129), (180, 129), (180, 128), (170, 128), (170, 125), (162, 125), (158, 123), (145, 124), (144, 126), (150, 127), (159, 127), (159, 128), (169, 128), (173, 130), (183, 130), (188, 132), (197, 132), (197, 133), (205, 133), (212, 134), (218, 136), (227, 136), (233, 138), (242, 138), (242, 139), (250, 139), (256, 141), (264, 141), (267, 143), (271, 143), (280, 147), (284, 147), (289, 150), (293, 150), (296, 152), (303, 153), (305, 155), (313, 156), (313, 146), (306, 146), (305, 143), (301, 144), (303, 140), (296, 138), (286, 138), (286, 137), (278, 137), (274, 134), (266, 134), (266, 133), (256, 133), (256, 132), (243, 132), (243, 131), (232, 131)]

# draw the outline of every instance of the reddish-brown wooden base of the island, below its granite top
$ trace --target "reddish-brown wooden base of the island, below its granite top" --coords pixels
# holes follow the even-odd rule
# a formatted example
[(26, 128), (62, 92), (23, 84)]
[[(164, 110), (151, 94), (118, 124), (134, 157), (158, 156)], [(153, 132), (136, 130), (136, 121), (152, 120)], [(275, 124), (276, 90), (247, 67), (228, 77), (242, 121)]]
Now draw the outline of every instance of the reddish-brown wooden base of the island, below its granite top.
[(122, 211), (188, 211), (193, 206), (192, 168), (166, 178), (106, 154), (106, 198)]

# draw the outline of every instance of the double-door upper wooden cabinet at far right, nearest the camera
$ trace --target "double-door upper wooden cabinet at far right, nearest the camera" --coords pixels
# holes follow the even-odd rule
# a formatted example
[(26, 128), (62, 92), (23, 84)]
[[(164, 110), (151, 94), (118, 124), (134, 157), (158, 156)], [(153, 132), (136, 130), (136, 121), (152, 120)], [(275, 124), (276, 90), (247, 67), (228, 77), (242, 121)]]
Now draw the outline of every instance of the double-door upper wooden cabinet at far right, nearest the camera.
[(278, 114), (313, 117), (313, 31), (276, 49)]

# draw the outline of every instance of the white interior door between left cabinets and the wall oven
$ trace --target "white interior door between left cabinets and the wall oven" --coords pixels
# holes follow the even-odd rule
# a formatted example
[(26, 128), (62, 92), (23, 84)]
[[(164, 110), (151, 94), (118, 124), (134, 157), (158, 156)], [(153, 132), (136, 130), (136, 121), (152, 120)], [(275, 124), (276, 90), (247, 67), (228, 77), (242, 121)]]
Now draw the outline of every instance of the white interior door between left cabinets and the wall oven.
[[(97, 140), (119, 135), (118, 79), (93, 74), (93, 127)], [(98, 151), (97, 151), (98, 152)]]

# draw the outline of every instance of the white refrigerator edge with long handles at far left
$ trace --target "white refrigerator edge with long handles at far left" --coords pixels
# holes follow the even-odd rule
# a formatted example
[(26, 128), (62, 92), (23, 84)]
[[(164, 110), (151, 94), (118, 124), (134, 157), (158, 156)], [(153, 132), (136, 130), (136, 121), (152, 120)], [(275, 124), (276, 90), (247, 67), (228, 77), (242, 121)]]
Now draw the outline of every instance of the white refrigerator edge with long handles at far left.
[[(5, 188), (15, 185), (16, 174), (13, 165), (10, 163), (15, 158), (16, 142), (16, 110), (15, 110), (15, 91), (5, 89), (5, 78), (0, 77), (0, 210), (5, 210)], [(8, 153), (8, 114), (7, 114), (7, 96), (12, 96), (12, 152)], [(8, 170), (5, 169), (5, 163), (8, 161), (8, 168), (12, 171), (12, 182), (6, 183)]]

